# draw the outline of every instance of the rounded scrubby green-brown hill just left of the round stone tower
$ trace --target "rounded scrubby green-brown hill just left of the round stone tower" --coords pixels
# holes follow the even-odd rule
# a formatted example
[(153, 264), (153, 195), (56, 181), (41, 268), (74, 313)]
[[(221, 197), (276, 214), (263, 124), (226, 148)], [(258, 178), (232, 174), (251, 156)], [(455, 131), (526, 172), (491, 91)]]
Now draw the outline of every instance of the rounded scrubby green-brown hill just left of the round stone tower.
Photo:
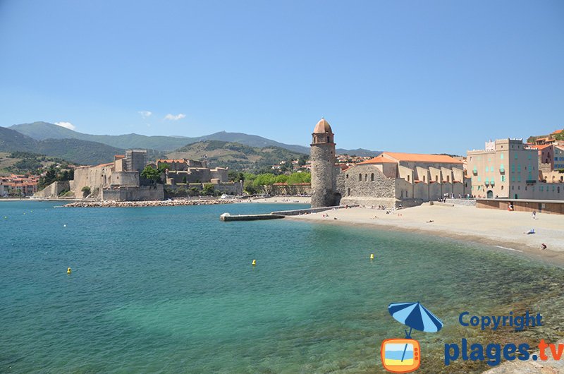
[(281, 147), (250, 147), (240, 143), (206, 140), (191, 143), (169, 152), (173, 159), (204, 159), (207, 157), (211, 167), (229, 167), (230, 169), (260, 169), (271, 167), (281, 161), (298, 159), (305, 153), (292, 152)]

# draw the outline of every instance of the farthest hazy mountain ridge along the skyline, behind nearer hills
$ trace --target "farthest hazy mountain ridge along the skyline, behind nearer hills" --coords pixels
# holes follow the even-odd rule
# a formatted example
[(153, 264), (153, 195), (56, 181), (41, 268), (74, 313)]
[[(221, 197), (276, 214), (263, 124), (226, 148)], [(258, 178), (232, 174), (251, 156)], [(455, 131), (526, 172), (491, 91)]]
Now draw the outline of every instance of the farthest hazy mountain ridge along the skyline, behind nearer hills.
[[(34, 138), (35, 140), (80, 139), (122, 149), (141, 148), (171, 152), (187, 144), (198, 143), (206, 140), (219, 140), (227, 143), (240, 143), (248, 145), (249, 147), (281, 147), (292, 152), (305, 153), (309, 155), (309, 147), (304, 147), (303, 145), (284, 144), (258, 135), (227, 133), (226, 131), (188, 138), (183, 136), (146, 136), (135, 133), (127, 135), (90, 135), (78, 133), (77, 131), (72, 131), (68, 128), (63, 128), (47, 122), (22, 123), (20, 125), (10, 126), (9, 128), (16, 130), (23, 135), (27, 135), (30, 138)], [(306, 138), (308, 137), (307, 134), (305, 136)], [(375, 152), (362, 149), (338, 149), (337, 152), (357, 156), (377, 156), (380, 154), (380, 152), (377, 151)]]

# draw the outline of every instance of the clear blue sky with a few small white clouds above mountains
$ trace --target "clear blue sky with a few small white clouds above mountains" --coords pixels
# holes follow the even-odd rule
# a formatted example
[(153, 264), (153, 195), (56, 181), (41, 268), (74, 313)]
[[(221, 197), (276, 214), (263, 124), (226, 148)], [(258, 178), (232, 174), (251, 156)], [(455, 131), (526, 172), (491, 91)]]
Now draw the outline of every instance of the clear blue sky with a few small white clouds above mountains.
[(465, 154), (564, 127), (564, 1), (0, 0), (0, 126)]

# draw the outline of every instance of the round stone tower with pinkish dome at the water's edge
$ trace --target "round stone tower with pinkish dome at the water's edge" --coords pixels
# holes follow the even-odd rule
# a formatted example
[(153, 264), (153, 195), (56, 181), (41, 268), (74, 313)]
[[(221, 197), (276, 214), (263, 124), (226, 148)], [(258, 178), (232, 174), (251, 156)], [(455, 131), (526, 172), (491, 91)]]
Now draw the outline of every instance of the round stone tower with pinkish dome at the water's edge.
[(312, 207), (336, 205), (333, 131), (325, 119), (317, 122), (312, 133), (309, 160), (312, 162)]

